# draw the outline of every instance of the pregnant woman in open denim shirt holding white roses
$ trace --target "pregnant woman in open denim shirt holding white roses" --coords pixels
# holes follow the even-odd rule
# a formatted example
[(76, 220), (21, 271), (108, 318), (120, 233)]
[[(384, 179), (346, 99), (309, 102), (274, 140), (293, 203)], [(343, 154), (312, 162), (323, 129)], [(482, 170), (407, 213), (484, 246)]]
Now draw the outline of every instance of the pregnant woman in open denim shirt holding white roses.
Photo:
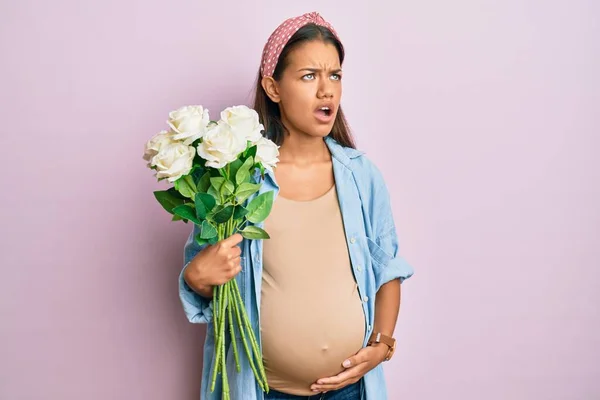
[[(317, 13), (273, 32), (255, 100), (265, 134), (280, 146), (256, 194), (275, 194), (259, 224), (271, 238), (248, 243), (235, 234), (198, 247), (195, 227), (185, 246), (188, 319), (210, 324), (213, 285), (235, 278), (260, 338), (271, 390), (264, 394), (243, 368), (229, 377), (233, 399), (387, 398), (381, 364), (394, 354), (400, 285), (413, 269), (398, 255), (382, 175), (355, 149), (342, 113), (343, 61), (336, 31)], [(202, 399), (220, 398), (220, 387), (211, 393), (208, 385), (212, 332)], [(231, 354), (227, 362), (233, 371)]]

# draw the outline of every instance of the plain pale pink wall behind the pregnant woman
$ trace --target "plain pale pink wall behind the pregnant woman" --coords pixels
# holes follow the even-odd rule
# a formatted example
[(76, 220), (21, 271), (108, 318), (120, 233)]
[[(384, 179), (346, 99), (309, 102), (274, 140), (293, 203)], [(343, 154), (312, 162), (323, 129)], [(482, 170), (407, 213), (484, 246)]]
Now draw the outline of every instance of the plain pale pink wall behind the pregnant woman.
[(597, 2), (20, 0), (0, 2), (1, 399), (198, 398), (188, 226), (143, 143), (178, 106), (246, 102), (268, 34), (314, 10), (416, 270), (390, 399), (600, 398)]

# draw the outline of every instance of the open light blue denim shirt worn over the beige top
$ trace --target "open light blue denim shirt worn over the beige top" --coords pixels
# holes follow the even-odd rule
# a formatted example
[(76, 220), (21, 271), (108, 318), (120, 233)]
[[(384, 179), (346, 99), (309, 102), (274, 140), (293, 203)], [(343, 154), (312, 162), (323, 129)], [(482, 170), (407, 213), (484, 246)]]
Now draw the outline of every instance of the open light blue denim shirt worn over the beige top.
[[(399, 252), (398, 237), (390, 196), (379, 169), (363, 152), (344, 147), (332, 137), (324, 138), (332, 155), (333, 173), (338, 201), (347, 239), (351, 267), (358, 292), (361, 296), (364, 312), (365, 338), (363, 347), (373, 332), (375, 318), (375, 297), (379, 288), (393, 279), (405, 279), (414, 273), (413, 268), (402, 258)], [(260, 178), (257, 169), (255, 178)], [(259, 179), (256, 179), (259, 182)], [(260, 190), (248, 201), (260, 193), (274, 191), (275, 199), (279, 186), (273, 172), (266, 171)], [(264, 227), (264, 221), (256, 224)], [(184, 246), (184, 267), (179, 275), (179, 296), (185, 315), (191, 323), (208, 324), (204, 343), (204, 368), (202, 371), (201, 400), (221, 398), (221, 379), (217, 376), (215, 391), (210, 391), (213, 370), (215, 337), (213, 330), (212, 301), (194, 292), (184, 281), (183, 271), (202, 249), (194, 241), (199, 233), (194, 226)], [(267, 239), (268, 240), (268, 239)], [(240, 243), (242, 250), (242, 271), (235, 277), (240, 288), (246, 312), (257, 337), (260, 340), (260, 304), (263, 271), (262, 240), (246, 240)], [(241, 339), (237, 338), (241, 343)], [(227, 343), (227, 371), (232, 399), (262, 400), (264, 393), (254, 378), (252, 369), (244, 351), (239, 351), (241, 372), (235, 369), (235, 359), (231, 343)], [(241, 344), (238, 349), (242, 349)], [(352, 354), (348, 354), (351, 356)], [(382, 400), (387, 398), (382, 364), (377, 365), (364, 376), (362, 399)]]

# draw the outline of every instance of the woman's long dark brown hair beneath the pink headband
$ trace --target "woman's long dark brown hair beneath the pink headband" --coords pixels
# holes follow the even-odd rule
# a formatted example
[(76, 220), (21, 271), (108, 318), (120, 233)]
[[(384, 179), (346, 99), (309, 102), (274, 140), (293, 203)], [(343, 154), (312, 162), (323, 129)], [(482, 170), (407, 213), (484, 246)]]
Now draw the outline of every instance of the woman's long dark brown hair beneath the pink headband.
[[(325, 43), (333, 44), (337, 49), (338, 56), (340, 57), (340, 65), (343, 64), (345, 53), (342, 43), (331, 33), (329, 29), (316, 24), (307, 24), (298, 29), (298, 31), (290, 38), (281, 51), (281, 55), (277, 61), (277, 66), (273, 72), (273, 79), (276, 81), (281, 79), (283, 71), (289, 64), (289, 54), (294, 48), (298, 47), (302, 43), (313, 40), (322, 40)], [(254, 109), (258, 113), (260, 122), (265, 127), (265, 136), (271, 139), (277, 145), (281, 145), (287, 129), (285, 126), (283, 126), (283, 122), (281, 121), (279, 106), (277, 103), (273, 102), (269, 96), (267, 96), (267, 93), (262, 87), (261, 80), (262, 75), (259, 68), (258, 77), (256, 79)], [(335, 121), (333, 122), (333, 127), (331, 128), (331, 132), (329, 134), (342, 146), (351, 147), (353, 149), (356, 148), (354, 138), (350, 132), (348, 121), (346, 121), (346, 117), (344, 116), (341, 106), (338, 109)]]

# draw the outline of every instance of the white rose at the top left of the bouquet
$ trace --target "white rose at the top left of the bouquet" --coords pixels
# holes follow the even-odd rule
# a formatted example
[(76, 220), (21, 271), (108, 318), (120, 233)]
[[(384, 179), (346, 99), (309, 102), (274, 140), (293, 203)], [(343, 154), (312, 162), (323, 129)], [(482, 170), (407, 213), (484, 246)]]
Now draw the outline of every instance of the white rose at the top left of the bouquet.
[(167, 124), (173, 130), (175, 140), (183, 140), (183, 144), (192, 144), (206, 132), (210, 122), (208, 110), (202, 106), (184, 106), (169, 113)]

